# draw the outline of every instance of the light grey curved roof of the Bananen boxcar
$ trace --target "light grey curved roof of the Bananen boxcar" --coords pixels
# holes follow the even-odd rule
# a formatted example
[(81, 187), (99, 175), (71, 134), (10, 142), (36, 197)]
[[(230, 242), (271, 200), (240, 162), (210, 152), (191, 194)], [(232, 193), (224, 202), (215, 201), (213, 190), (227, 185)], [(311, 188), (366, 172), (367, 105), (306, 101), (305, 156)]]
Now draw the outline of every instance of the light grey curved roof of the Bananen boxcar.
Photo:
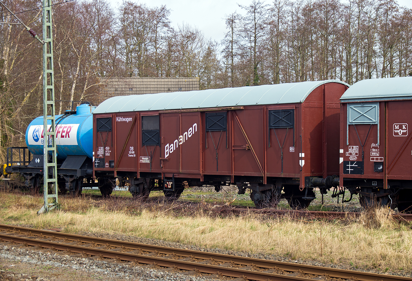
[(93, 114), (302, 103), (311, 91), (316, 89), (316, 87), (329, 82), (340, 83), (349, 87), (348, 84), (339, 80), (325, 80), (254, 87), (115, 96), (98, 105)]

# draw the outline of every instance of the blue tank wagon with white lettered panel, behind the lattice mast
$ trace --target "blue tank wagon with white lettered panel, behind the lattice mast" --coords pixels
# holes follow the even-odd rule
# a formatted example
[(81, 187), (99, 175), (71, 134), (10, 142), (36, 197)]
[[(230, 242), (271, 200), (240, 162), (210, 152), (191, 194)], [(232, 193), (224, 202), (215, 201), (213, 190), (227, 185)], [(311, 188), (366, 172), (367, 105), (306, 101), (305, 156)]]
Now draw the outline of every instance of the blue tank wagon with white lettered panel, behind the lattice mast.
[[(85, 178), (87, 183), (91, 184), (93, 175), (92, 113), (95, 108), (89, 104), (82, 104), (77, 106), (76, 110), (67, 110), (63, 115), (56, 115), (59, 190), (69, 191), (73, 196), (81, 194)], [(51, 123), (49, 124), (51, 126)], [(7, 148), (7, 164), (3, 167), (5, 176), (10, 173), (21, 174), (26, 179), (26, 186), (32, 187), (35, 192), (39, 190), (43, 177), (43, 133), (43, 117), (40, 116), (27, 127), (27, 148)]]

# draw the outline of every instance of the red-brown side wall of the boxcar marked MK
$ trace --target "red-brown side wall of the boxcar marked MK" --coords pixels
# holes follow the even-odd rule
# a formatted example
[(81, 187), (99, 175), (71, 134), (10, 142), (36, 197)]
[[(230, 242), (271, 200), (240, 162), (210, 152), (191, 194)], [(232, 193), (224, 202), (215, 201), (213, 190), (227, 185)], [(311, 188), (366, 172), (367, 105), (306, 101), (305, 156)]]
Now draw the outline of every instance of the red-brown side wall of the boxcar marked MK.
[[(378, 106), (377, 124), (348, 125), (348, 107), (356, 105), (360, 108), (368, 105)], [(385, 188), (388, 188), (387, 181), (388, 185), (400, 185), (396, 180), (412, 180), (411, 106), (412, 101), (342, 104), (342, 179), (376, 179), (368, 185)], [(351, 185), (351, 182), (346, 180), (344, 185)]]

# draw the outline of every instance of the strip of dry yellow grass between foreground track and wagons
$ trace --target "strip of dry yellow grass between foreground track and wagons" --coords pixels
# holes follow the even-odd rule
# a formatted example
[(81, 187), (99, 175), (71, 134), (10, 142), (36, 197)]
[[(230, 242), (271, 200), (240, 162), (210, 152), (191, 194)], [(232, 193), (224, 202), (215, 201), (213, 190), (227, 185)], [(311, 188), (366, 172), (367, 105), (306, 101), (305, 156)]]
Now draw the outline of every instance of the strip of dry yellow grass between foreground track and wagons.
[(94, 201), (60, 197), (60, 210), (36, 215), (41, 198), (0, 194), (4, 223), (64, 232), (126, 234), (208, 248), (265, 252), (380, 270), (412, 269), (412, 231), (388, 209), (363, 213), (357, 221), (304, 221), (255, 214), (236, 217), (224, 206), (132, 199)]

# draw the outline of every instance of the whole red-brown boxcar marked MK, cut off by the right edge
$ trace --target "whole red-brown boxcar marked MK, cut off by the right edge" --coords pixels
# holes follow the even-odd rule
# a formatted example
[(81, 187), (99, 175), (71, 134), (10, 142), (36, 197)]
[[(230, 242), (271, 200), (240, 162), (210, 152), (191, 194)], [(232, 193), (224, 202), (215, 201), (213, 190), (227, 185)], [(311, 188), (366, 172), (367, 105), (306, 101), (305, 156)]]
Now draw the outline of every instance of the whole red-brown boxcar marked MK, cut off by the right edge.
[(362, 80), (340, 100), (339, 185), (363, 206), (412, 211), (412, 77)]

